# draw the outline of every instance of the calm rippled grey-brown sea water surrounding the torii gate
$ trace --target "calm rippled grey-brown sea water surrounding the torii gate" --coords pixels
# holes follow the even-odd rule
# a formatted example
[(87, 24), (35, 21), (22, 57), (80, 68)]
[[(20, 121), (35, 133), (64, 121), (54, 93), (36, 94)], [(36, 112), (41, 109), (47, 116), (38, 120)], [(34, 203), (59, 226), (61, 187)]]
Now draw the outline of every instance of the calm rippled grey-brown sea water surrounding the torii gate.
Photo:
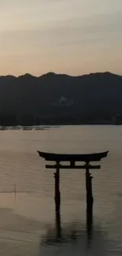
[[(46, 169), (37, 150), (64, 154), (109, 150), (108, 157), (97, 163), (101, 169), (91, 170), (91, 237), (87, 232), (85, 170), (61, 170), (57, 224), (54, 170)], [(0, 255), (122, 255), (122, 126), (0, 131)]]

